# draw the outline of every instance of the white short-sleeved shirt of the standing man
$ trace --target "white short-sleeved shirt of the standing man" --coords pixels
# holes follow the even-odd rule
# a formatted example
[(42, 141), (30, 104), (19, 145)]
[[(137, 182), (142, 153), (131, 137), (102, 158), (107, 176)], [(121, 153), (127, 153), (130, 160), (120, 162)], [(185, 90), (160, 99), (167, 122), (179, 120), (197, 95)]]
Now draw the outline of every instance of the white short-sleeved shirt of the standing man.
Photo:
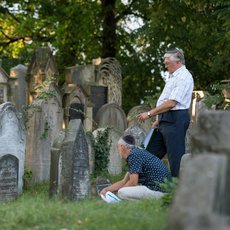
[(191, 104), (193, 88), (193, 77), (183, 65), (167, 79), (161, 96), (157, 101), (157, 106), (165, 101), (175, 100), (177, 104), (172, 110), (188, 109)]

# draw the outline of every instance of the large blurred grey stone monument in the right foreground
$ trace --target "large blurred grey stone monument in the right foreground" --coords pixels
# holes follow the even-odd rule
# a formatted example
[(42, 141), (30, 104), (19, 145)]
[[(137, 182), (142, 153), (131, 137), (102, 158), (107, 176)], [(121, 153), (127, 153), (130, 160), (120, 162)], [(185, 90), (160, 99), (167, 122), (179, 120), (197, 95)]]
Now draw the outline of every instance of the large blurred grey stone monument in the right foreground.
[(171, 210), (171, 230), (230, 229), (230, 112), (199, 115), (193, 157), (180, 178)]

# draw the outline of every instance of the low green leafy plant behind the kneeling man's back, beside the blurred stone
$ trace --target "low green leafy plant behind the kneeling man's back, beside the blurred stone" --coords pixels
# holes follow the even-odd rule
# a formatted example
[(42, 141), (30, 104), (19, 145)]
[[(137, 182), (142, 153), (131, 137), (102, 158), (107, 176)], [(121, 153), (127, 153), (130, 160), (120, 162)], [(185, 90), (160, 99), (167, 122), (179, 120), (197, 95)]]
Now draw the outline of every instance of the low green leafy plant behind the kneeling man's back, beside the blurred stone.
[(164, 205), (170, 205), (172, 203), (178, 182), (179, 182), (178, 178), (173, 177), (172, 180), (166, 179), (166, 180), (164, 180), (164, 183), (160, 184), (160, 187), (163, 189), (163, 191), (165, 191), (167, 193), (162, 198)]

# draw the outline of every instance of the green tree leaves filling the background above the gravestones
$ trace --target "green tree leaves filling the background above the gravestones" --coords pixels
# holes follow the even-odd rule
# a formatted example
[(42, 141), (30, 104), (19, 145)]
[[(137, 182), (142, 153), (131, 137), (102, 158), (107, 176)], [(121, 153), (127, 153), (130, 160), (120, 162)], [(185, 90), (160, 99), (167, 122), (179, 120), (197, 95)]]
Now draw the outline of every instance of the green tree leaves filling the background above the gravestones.
[[(108, 28), (104, 19), (109, 17), (102, 7), (105, 2), (0, 0), (4, 66), (9, 68), (9, 59), (27, 64), (35, 48), (49, 46), (63, 83), (66, 67), (91, 63), (104, 53), (105, 43), (115, 39), (110, 44), (115, 44), (112, 48), (122, 65), (125, 112), (162, 89), (162, 56), (175, 46), (185, 52), (196, 89), (205, 90), (212, 82), (229, 78), (229, 1), (146, 0), (124, 4), (116, 0), (110, 9), (115, 13), (110, 19), (115, 20), (116, 36), (104, 33)], [(133, 20), (140, 26), (131, 30), (128, 25)]]

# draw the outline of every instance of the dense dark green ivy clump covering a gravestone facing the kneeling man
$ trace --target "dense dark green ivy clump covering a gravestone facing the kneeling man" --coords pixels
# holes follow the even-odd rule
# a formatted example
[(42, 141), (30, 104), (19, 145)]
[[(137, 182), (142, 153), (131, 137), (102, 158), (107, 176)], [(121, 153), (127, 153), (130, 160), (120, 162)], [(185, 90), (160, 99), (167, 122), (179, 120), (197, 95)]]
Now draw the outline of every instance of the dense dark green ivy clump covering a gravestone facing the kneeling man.
[(94, 142), (95, 175), (101, 175), (102, 173), (107, 172), (110, 146), (109, 128), (99, 130)]

